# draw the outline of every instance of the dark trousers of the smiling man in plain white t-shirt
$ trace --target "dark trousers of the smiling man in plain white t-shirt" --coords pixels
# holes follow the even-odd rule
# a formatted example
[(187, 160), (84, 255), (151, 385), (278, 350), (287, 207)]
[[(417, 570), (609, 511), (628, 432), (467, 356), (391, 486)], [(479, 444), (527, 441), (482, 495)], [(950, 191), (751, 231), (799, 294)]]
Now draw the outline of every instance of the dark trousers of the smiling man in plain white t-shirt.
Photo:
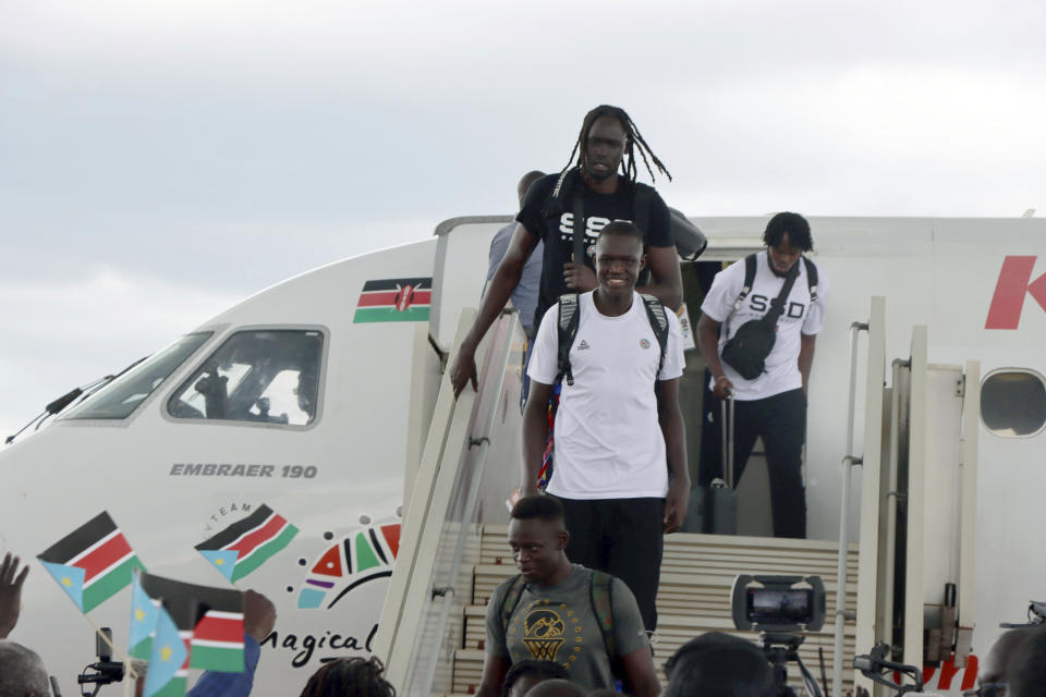
[(665, 499), (559, 500), (570, 533), (567, 559), (623, 580), (640, 606), (643, 625), (653, 632), (665, 547)]

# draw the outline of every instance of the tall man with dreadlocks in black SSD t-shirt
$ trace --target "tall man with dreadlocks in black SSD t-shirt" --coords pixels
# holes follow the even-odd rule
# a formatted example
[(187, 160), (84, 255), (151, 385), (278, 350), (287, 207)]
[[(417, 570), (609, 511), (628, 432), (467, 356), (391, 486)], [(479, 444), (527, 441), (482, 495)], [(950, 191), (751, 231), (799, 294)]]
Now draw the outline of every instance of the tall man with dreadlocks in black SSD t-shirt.
[[(601, 105), (585, 114), (567, 167), (531, 186), (515, 217), (520, 224), (509, 249), (451, 367), (455, 395), (469, 381), (476, 387), (476, 346), (519, 284), (523, 266), (539, 241), (545, 242), (540, 293), (534, 317), (523, 318), (524, 323), (537, 327), (545, 310), (564, 293), (595, 290), (596, 276), (589, 255), (599, 231), (613, 220), (634, 222), (644, 233), (644, 254), (652, 279), (635, 290), (655, 295), (668, 307), (679, 309), (682, 280), (668, 207), (656, 192), (636, 182), (636, 151), (652, 180), (652, 164), (672, 179), (624, 109)], [(577, 209), (583, 211), (584, 219), (584, 224), (579, 225), (585, 235), (586, 254), (582, 259), (573, 258)]]

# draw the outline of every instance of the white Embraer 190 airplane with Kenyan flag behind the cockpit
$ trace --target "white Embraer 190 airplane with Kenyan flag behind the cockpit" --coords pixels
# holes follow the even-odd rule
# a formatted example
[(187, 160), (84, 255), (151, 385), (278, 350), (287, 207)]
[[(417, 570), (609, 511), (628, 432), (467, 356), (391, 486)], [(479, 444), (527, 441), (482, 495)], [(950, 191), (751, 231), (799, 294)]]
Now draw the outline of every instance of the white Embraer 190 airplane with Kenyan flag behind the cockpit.
[[(759, 252), (767, 219), (692, 219), (709, 245), (681, 260), (690, 320), (700, 279)], [(325, 660), (370, 651), (402, 694), (466, 693), (465, 663), (478, 651), (467, 632), (477, 599), (461, 597), (479, 584), (470, 570), (503, 562), (495, 571), (511, 574), (498, 526), (519, 477), (515, 314), (477, 352), (478, 393), (455, 402), (445, 369), (478, 303), (489, 241), (510, 220), (454, 218), (430, 239), (266, 289), (16, 440), (0, 452), (0, 553), (29, 559), (106, 511), (149, 572), (228, 587), (195, 547), (266, 505), (299, 534), (234, 584), (267, 595), (279, 614), (256, 694), (295, 694)], [(810, 540), (787, 551), (799, 568), (803, 554), (842, 552), (835, 578), (835, 561), (818, 566), (830, 568), (820, 646), (834, 695), (871, 685), (843, 656), (876, 641), (896, 646), (895, 660), (937, 667), (934, 689), (954, 694), (962, 681), (945, 674), (974, 677), (970, 657), (1043, 595), (1032, 512), (1046, 489), (1046, 223), (810, 221), (812, 258), (832, 283), (808, 393)], [(705, 378), (700, 352), (686, 362), (693, 472)], [(676, 538), (759, 551), (744, 557), (749, 568), (730, 562), (715, 578), (681, 571), (684, 590), (697, 583), (686, 574), (719, 584), (786, 549), (769, 537), (754, 457), (738, 485), (735, 540), (677, 534), (667, 549)], [(94, 629), (33, 565), (10, 638), (36, 648), (69, 692), (93, 660)], [(840, 589), (842, 606), (832, 604)], [(124, 589), (88, 617), (112, 627), (120, 649), (129, 610)], [(680, 626), (720, 626), (701, 624), (703, 612)], [(673, 640), (656, 647), (659, 660)]]

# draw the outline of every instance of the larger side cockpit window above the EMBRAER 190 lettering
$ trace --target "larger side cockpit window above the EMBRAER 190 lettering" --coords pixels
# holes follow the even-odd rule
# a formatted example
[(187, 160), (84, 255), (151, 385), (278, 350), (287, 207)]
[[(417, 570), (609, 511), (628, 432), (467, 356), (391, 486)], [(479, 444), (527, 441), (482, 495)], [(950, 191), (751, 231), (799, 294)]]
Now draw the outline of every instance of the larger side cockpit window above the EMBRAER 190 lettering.
[(305, 426), (316, 418), (324, 334), (232, 334), (167, 403), (174, 418)]

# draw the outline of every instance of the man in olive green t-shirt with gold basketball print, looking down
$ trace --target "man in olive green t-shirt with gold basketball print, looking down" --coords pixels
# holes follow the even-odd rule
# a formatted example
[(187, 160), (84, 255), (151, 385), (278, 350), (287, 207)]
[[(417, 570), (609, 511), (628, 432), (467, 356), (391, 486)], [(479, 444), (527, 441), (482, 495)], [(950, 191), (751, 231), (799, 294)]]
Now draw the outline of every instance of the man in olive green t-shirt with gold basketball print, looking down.
[(502, 607), (514, 579), (498, 586), (487, 603), (486, 660), (477, 697), (497, 697), (509, 667), (525, 659), (560, 663), (572, 682), (596, 689), (613, 685), (613, 658), (630, 695), (660, 693), (635, 598), (624, 582), (611, 579), (616, 656), (610, 657), (593, 609), (593, 572), (567, 559), (569, 539), (562, 505), (554, 497), (524, 497), (512, 510), (509, 545), (526, 583), (507, 627)]

